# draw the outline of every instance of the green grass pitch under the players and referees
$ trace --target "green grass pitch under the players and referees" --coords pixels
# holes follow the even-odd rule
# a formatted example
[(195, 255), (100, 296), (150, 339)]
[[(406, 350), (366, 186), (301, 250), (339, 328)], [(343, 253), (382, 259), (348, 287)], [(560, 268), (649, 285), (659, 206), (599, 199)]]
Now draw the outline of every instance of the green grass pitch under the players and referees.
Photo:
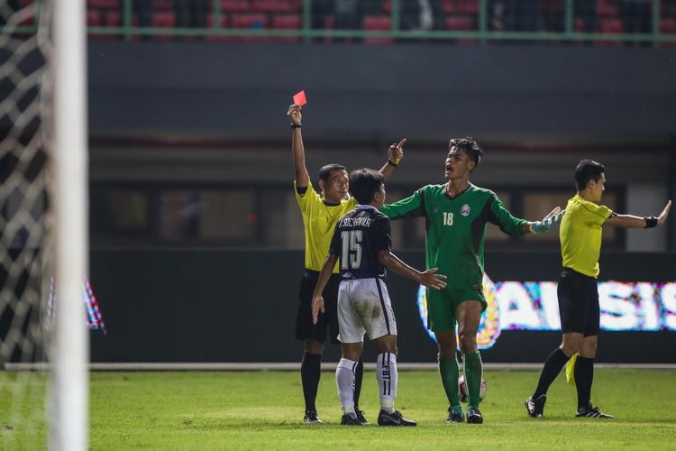
[[(444, 422), (448, 406), (437, 373), (400, 371), (397, 410), (418, 426), (379, 428), (377, 382), (366, 372), (361, 409), (371, 424), (355, 428), (338, 424), (331, 372), (322, 374), (317, 399), (321, 425), (302, 422), (297, 372), (97, 372), (91, 374), (89, 442), (95, 450), (676, 448), (676, 372), (598, 369), (592, 402), (616, 419), (574, 418), (575, 390), (562, 375), (549, 392), (545, 418), (527, 418), (523, 401), (537, 376), (485, 373), (485, 423), (470, 425)], [(22, 428), (3, 413), (6, 394), (0, 400), (3, 441), (28, 448)]]

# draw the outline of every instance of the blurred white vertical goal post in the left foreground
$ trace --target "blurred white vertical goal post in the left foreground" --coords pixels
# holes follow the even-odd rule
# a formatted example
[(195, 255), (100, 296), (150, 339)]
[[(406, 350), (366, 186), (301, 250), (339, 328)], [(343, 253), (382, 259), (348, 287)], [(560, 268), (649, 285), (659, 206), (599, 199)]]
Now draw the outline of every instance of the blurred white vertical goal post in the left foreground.
[(87, 449), (89, 354), (83, 278), (88, 269), (86, 0), (54, 1), (52, 201), (59, 301), (52, 351), (50, 449)]

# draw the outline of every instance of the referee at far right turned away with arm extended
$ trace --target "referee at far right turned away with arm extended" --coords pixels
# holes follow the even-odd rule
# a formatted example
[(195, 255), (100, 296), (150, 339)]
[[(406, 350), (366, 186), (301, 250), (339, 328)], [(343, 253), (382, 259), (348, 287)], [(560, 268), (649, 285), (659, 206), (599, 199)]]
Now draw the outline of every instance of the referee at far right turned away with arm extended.
[(591, 382), (594, 378), (594, 357), (598, 342), (598, 256), (601, 251), (602, 226), (651, 228), (662, 226), (669, 214), (671, 200), (660, 216), (617, 215), (599, 205), (605, 189), (605, 168), (597, 161), (582, 160), (575, 170), (577, 194), (568, 201), (559, 231), (563, 271), (557, 295), (561, 314), (562, 344), (553, 350), (544, 363), (533, 396), (525, 400), (528, 415), (542, 418), (546, 393), (573, 354), (575, 385), (578, 391), (576, 417), (613, 418), (593, 407)]

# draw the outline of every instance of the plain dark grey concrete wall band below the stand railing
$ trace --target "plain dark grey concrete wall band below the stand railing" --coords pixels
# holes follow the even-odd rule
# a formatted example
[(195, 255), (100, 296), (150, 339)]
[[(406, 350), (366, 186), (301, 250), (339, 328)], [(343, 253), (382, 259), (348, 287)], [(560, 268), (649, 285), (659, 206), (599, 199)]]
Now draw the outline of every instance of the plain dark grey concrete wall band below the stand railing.
[(317, 133), (665, 138), (675, 59), (672, 49), (549, 45), (92, 41), (90, 124), (269, 136), (305, 88)]

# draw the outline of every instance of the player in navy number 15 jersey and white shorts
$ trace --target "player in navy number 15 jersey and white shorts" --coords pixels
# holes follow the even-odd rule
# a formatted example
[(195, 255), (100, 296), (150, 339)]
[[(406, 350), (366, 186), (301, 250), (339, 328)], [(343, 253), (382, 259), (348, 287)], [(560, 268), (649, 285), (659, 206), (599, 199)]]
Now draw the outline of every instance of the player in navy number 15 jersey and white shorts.
[(416, 426), (394, 408), (397, 397), (397, 321), (385, 286), (387, 267), (432, 289), (446, 286), (436, 268), (419, 272), (390, 252), (388, 216), (379, 212), (385, 202), (385, 179), (376, 170), (354, 170), (350, 192), (359, 202), (335, 226), (329, 253), (313, 293), (312, 318), (324, 313), (322, 293), (340, 258), (338, 328), (342, 358), (335, 370), (338, 397), (343, 409), (341, 424), (361, 426), (354, 409), (354, 369), (361, 358), (364, 334), (378, 354), (376, 377), (380, 393), (379, 426)]

